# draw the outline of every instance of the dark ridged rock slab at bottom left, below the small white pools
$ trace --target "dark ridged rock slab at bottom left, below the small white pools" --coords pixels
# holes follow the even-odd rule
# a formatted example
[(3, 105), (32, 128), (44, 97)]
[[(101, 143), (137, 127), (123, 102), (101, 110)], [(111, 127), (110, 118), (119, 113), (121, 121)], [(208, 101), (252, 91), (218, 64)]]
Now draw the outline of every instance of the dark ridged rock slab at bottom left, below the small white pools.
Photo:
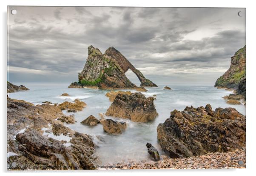
[(94, 149), (90, 146), (74, 145), (69, 149), (58, 140), (41, 136), (34, 130), (19, 133), (16, 140), (21, 144), (23, 156), (35, 164), (52, 169), (95, 169)]

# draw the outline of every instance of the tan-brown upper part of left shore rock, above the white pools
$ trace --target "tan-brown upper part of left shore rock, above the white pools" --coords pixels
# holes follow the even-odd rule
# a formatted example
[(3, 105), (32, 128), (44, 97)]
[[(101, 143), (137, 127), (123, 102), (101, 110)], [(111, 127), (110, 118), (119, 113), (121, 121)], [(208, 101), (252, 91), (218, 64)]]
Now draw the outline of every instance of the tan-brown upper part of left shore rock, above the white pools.
[(8, 139), (12, 140), (17, 132), (28, 126), (40, 132), (43, 127), (48, 127), (49, 123), (63, 115), (59, 107), (50, 104), (34, 106), (29, 102), (9, 98), (7, 101)]

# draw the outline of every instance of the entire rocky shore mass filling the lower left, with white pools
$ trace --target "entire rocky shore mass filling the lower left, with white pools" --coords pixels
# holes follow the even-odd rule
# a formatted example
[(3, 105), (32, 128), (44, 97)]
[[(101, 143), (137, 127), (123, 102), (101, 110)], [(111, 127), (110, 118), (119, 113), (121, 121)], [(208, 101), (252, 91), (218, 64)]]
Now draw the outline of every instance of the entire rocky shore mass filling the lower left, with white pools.
[[(89, 135), (75, 132), (63, 124), (62, 121), (73, 121), (71, 117), (65, 116), (58, 106), (34, 106), (7, 96), (7, 152), (15, 153), (7, 158), (7, 169), (96, 169), (100, 162), (94, 151), (96, 145)], [(55, 140), (43, 134), (43, 127), (48, 135), (67, 137)], [(12, 167), (14, 164), (17, 167)]]

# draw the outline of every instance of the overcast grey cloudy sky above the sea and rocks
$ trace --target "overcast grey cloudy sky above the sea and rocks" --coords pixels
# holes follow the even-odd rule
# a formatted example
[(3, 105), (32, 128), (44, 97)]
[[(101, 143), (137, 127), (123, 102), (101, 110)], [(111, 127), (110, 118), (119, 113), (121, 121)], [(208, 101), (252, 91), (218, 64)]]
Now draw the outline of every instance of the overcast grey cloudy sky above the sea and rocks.
[(90, 45), (115, 47), (155, 83), (214, 85), (245, 45), (244, 8), (11, 6), (8, 13), (9, 81), (24, 85), (77, 81)]

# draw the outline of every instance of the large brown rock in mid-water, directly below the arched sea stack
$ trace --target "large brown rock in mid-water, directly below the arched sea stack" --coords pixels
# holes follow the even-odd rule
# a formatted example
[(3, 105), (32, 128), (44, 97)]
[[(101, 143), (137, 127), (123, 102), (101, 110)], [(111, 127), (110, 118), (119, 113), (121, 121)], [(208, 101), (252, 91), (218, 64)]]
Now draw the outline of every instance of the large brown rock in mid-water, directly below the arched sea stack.
[(154, 107), (153, 97), (146, 98), (142, 93), (131, 93), (131, 95), (118, 94), (106, 115), (129, 118), (136, 122), (148, 122), (154, 120), (158, 113)]

